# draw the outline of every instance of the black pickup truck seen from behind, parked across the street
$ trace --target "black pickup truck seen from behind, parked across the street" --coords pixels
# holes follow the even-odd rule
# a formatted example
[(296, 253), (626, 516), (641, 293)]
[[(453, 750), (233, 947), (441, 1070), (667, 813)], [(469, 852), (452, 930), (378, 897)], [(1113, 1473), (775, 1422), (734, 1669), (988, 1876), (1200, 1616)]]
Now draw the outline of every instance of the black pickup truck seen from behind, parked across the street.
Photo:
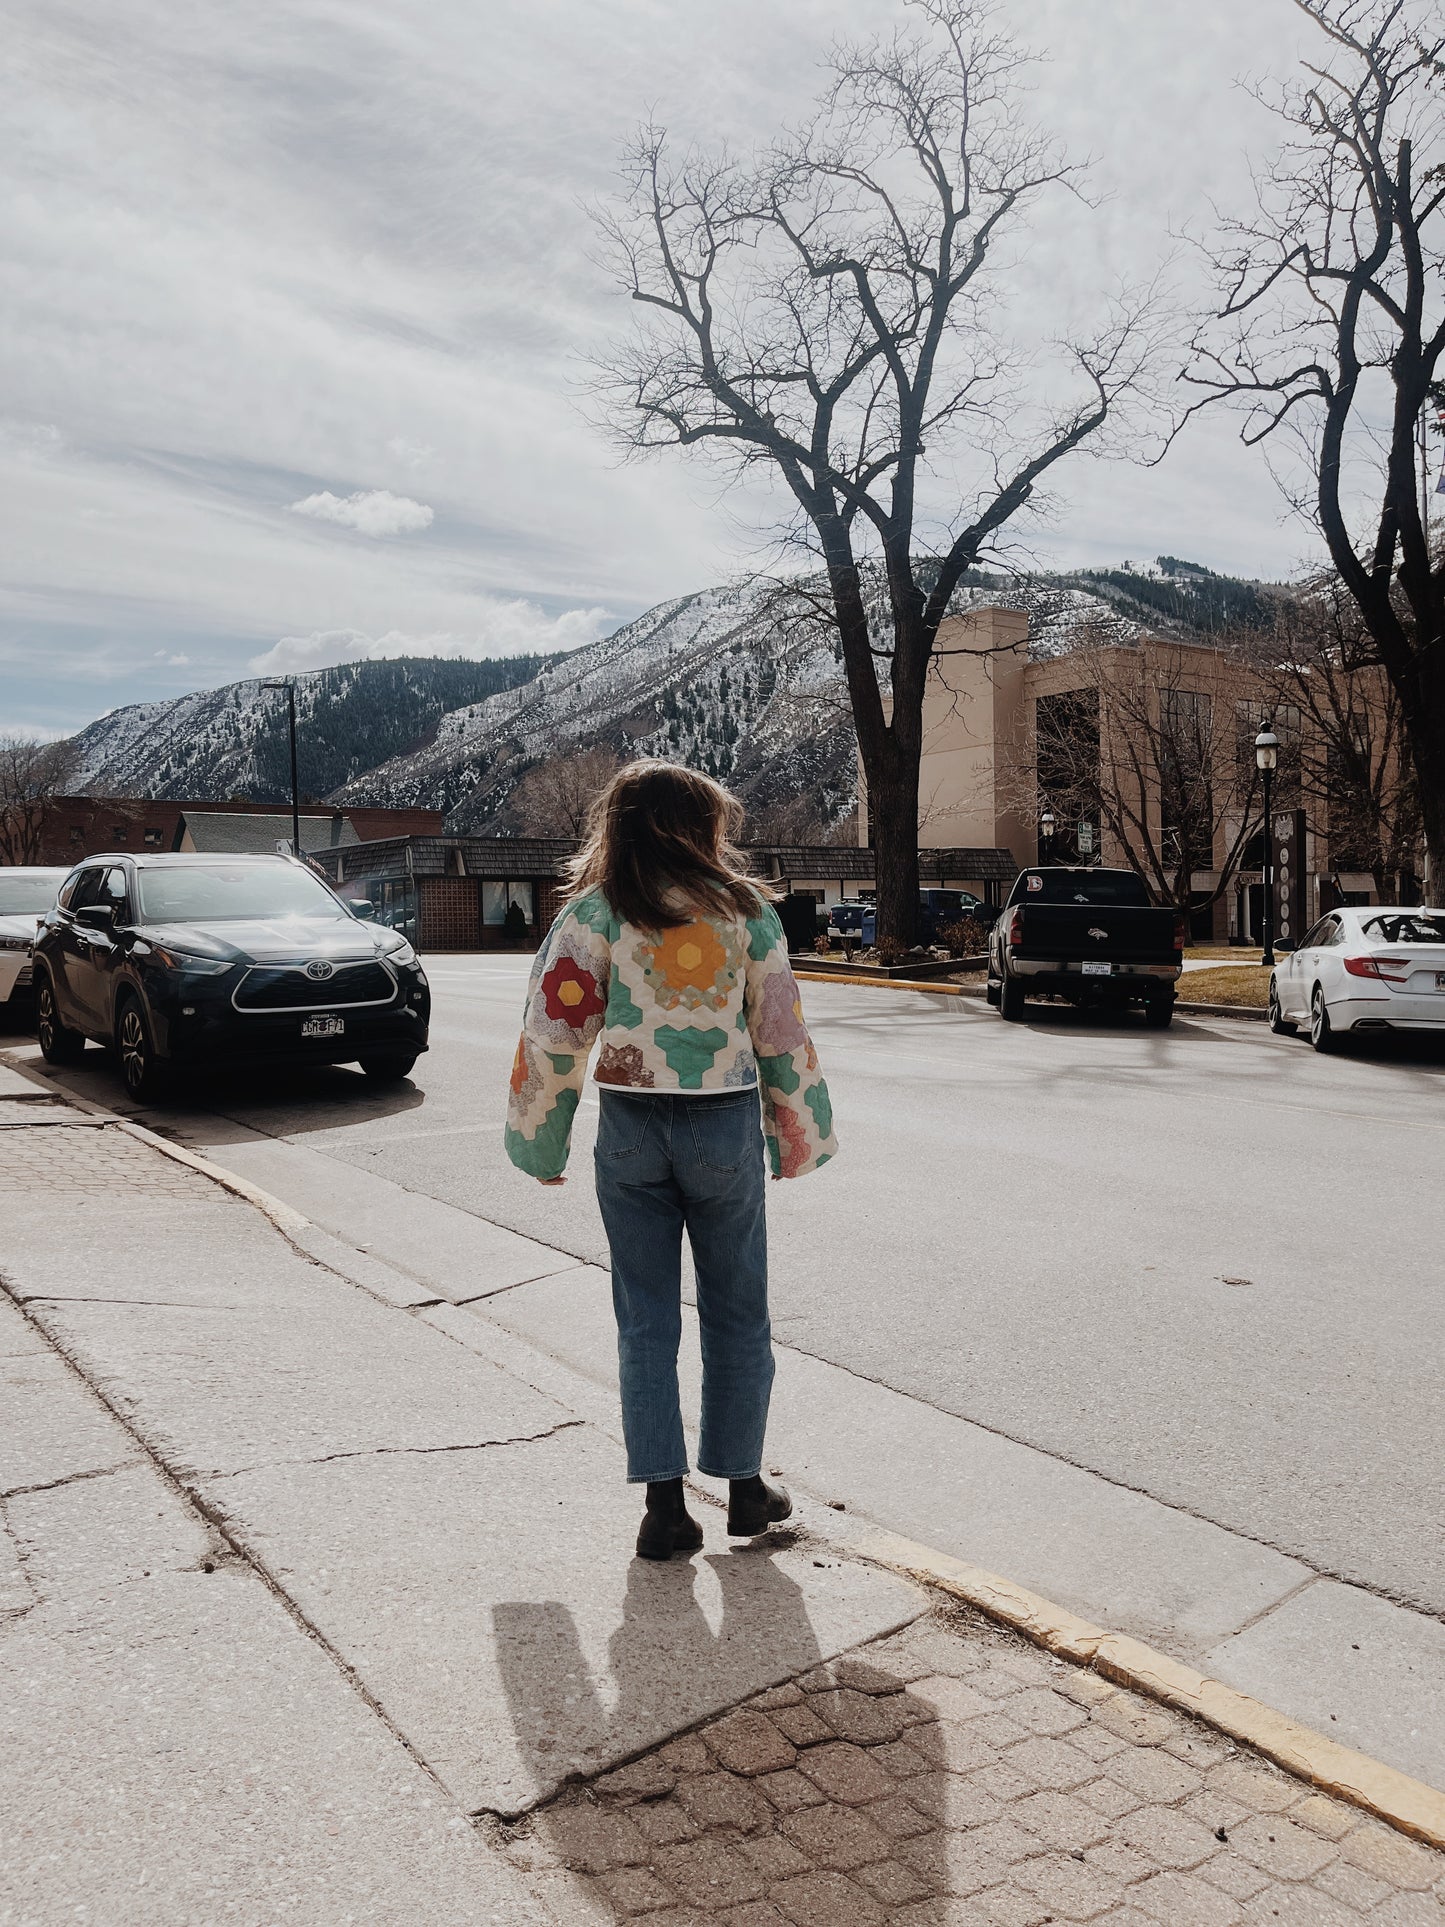
[(1025, 869), (988, 937), (988, 1002), (1012, 1023), (1027, 996), (1143, 1004), (1162, 1031), (1183, 958), (1185, 919), (1131, 869)]

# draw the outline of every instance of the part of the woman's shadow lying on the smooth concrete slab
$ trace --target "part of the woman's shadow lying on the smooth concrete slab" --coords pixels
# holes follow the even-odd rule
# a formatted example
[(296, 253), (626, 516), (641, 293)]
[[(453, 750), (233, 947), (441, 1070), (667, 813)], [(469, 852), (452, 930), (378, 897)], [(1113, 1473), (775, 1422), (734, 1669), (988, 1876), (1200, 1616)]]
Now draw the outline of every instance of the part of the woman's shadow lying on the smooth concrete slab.
[[(773, 1557), (786, 1540), (628, 1567), (609, 1680), (595, 1680), (576, 1623), (557, 1599), (493, 1609), (497, 1667), (524, 1775), (538, 1800), (696, 1725), (707, 1713), (805, 1673), (821, 1659), (801, 1588)], [(697, 1597), (711, 1569), (717, 1630)]]

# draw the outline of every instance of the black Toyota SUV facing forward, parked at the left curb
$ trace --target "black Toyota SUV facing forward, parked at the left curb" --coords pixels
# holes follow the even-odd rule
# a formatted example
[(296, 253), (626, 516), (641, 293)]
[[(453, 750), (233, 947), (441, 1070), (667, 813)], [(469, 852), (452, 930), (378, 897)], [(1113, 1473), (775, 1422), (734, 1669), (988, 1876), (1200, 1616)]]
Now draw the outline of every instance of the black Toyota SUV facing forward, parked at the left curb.
[[(356, 906), (370, 910), (370, 906)], [(114, 1044), (131, 1096), (171, 1069), (351, 1064), (407, 1077), (432, 992), (416, 952), (283, 856), (96, 856), (35, 940), (50, 1064)]]

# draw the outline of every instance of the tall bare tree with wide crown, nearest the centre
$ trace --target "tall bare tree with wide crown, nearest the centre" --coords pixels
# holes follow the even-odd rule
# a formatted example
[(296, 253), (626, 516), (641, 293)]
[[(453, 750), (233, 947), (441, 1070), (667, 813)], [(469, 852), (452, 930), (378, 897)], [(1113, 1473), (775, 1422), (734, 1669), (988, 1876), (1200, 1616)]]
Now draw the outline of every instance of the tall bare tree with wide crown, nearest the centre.
[(1023, 56), (986, 0), (909, 4), (921, 33), (838, 44), (815, 118), (746, 162), (674, 158), (644, 129), (624, 200), (599, 218), (644, 310), (603, 374), (624, 443), (769, 470), (792, 497), (790, 540), (823, 561), (880, 927), (904, 940), (938, 624), (1056, 462), (1102, 445), (1154, 351), (1150, 301), (1121, 297), (1092, 339), (1065, 345), (1075, 399), (1029, 405), (1000, 320), (1000, 245), (1079, 177), (1021, 123)]

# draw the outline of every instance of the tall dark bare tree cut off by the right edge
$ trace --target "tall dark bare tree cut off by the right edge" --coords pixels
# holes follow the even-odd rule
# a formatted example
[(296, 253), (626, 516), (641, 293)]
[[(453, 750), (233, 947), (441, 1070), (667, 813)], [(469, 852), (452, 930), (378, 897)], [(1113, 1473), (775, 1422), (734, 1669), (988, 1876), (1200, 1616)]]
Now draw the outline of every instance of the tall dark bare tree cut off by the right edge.
[(1445, 549), (1416, 439), (1445, 355), (1445, 33), (1426, 0), (1295, 6), (1320, 56), (1270, 98), (1285, 141), (1214, 251), (1222, 299), (1187, 380), (1245, 403), (1247, 443), (1300, 430), (1308, 509), (1395, 692), (1439, 879)]

